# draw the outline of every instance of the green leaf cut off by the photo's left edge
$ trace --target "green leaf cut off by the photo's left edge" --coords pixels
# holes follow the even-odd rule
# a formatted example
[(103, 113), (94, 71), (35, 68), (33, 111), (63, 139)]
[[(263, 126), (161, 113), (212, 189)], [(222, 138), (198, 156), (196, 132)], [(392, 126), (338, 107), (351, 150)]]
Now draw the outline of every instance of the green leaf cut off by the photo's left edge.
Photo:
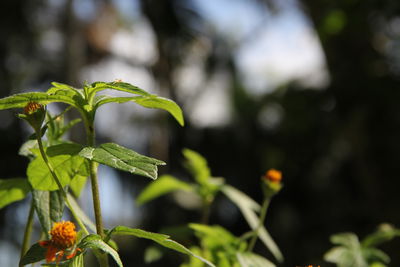
[(31, 186), (25, 178), (0, 179), (0, 209), (24, 199), (30, 190)]

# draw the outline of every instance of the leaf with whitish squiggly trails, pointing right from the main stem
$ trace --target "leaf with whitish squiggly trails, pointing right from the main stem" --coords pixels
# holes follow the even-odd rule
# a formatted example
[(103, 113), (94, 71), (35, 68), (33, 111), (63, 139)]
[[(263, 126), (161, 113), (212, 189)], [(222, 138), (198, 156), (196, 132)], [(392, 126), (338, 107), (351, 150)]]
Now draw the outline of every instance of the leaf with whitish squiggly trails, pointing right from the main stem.
[(114, 143), (102, 144), (97, 148), (85, 147), (80, 156), (98, 163), (127, 171), (133, 174), (157, 179), (157, 165), (165, 165), (161, 160), (140, 155), (139, 153)]

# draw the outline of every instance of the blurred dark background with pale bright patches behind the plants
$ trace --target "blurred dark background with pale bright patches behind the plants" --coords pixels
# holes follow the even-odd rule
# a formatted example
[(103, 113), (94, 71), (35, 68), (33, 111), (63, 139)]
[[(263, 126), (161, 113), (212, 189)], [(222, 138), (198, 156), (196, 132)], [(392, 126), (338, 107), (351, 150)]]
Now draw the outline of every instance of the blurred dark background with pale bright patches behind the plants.
[[(98, 114), (98, 142), (165, 160), (160, 172), (183, 179), (188, 147), (207, 158), (213, 176), (258, 201), (260, 176), (282, 170), (285, 187), (266, 225), (284, 266), (328, 266), (331, 234), (400, 225), (399, 12), (397, 0), (3, 0), (0, 97), (51, 81), (122, 79), (174, 99), (185, 127), (161, 112), (111, 105)], [(18, 149), (28, 129), (12, 111), (0, 121), (1, 178), (25, 177)], [(82, 134), (77, 127), (70, 138)], [(100, 172), (106, 227), (161, 231), (198, 220), (176, 205), (178, 196), (138, 208), (134, 198), (148, 180)], [(16, 266), (26, 204), (0, 211), (2, 266)], [(211, 224), (248, 230), (222, 198)], [(127, 266), (144, 265), (149, 244), (121, 242)], [(398, 240), (384, 247), (391, 266), (400, 265), (399, 248)], [(176, 257), (148, 266), (177, 266)]]

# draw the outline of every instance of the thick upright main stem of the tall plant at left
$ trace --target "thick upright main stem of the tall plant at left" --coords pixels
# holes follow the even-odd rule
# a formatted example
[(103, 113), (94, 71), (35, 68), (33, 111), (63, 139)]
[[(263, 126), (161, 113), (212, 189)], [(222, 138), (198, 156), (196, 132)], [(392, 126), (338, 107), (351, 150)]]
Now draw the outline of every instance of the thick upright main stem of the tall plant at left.
[[(89, 146), (95, 145), (95, 132), (94, 132), (94, 124), (92, 120), (84, 120), (87, 132), (87, 144)], [(93, 197), (93, 209), (94, 209), (94, 217), (96, 220), (96, 232), (97, 234), (104, 239), (104, 228), (103, 228), (103, 219), (101, 216), (101, 206), (100, 206), (100, 190), (99, 190), (99, 179), (97, 177), (97, 163), (93, 160), (89, 161), (89, 171), (90, 171), (90, 182), (92, 185), (92, 197)], [(98, 257), (99, 263), (101, 267), (108, 266), (108, 257), (107, 254), (99, 253)]]

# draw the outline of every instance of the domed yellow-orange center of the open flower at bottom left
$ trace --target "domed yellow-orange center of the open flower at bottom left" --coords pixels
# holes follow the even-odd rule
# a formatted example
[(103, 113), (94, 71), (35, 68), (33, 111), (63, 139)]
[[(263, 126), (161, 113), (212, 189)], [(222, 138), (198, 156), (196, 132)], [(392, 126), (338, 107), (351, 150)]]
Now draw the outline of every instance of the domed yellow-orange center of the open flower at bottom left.
[(76, 231), (75, 224), (72, 222), (57, 222), (54, 223), (50, 231), (51, 241), (59, 248), (68, 248), (75, 244)]

